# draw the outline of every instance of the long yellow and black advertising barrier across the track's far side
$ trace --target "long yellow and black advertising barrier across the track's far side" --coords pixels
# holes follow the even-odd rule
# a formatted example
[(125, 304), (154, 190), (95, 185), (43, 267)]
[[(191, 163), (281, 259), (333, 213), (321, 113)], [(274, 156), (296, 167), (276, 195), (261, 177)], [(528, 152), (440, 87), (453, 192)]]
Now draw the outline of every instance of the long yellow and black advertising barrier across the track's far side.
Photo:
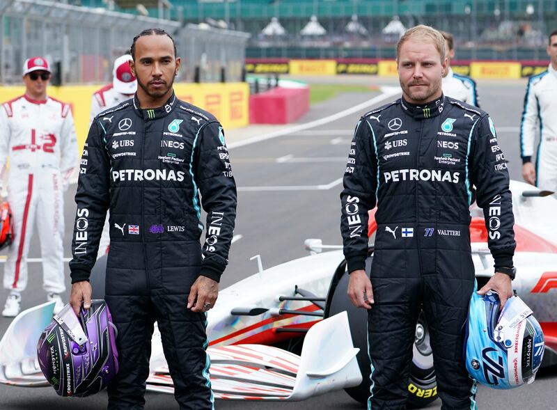
[[(453, 61), (458, 74), (474, 79), (519, 79), (547, 70), (547, 61)], [(372, 58), (337, 58), (331, 60), (289, 60), (288, 58), (246, 58), (246, 72), (251, 74), (337, 75), (373, 74), (397, 77), (394, 60)]]

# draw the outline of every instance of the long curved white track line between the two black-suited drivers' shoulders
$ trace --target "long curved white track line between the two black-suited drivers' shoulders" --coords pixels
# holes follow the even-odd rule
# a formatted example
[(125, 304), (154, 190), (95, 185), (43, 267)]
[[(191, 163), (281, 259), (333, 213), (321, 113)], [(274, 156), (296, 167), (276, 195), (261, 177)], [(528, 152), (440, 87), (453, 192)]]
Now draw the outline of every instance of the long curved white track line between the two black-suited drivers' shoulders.
[(338, 120), (339, 118), (344, 118), (346, 116), (350, 116), (353, 113), (357, 113), (359, 111), (362, 111), (363, 109), (371, 107), (372, 105), (375, 105), (379, 102), (382, 102), (382, 101), (387, 100), (387, 99), (389, 99), (389, 98), (391, 98), (395, 95), (400, 94), (400, 88), (399, 87), (381, 87), (381, 91), (382, 91), (381, 95), (377, 95), (377, 97), (373, 97), (371, 100), (362, 102), (361, 104), (354, 105), (354, 107), (350, 107), (349, 109), (345, 109), (345, 110), (340, 111), (338, 113), (334, 113), (331, 116), (320, 118), (319, 120), (315, 120), (315, 121), (310, 121), (309, 123), (295, 125), (294, 127), (290, 127), (290, 128), (286, 128), (286, 129), (279, 129), (278, 131), (274, 131), (274, 132), (268, 132), (267, 134), (263, 134), (263, 135), (260, 135), (260, 136), (254, 136), (254, 137), (249, 138), (249, 139), (244, 139), (244, 141), (237, 141), (235, 143), (230, 143), (230, 144), (228, 144), (228, 148), (232, 149), (232, 148), (237, 148), (237, 147), (243, 147), (244, 145), (258, 143), (258, 142), (261, 142), (261, 141), (266, 141), (267, 139), (273, 139), (273, 138), (276, 138), (277, 136), (293, 134), (295, 132), (304, 131), (305, 129), (318, 127), (319, 125), (329, 124), (329, 123), (332, 123), (333, 121)]

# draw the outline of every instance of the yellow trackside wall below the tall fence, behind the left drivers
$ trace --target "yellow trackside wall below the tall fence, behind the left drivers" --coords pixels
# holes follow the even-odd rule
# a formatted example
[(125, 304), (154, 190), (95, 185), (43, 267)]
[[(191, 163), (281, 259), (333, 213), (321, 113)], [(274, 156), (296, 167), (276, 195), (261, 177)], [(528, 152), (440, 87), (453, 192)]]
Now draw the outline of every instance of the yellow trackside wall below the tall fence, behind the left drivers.
[[(89, 113), (91, 112), (91, 97), (95, 86), (49, 86), (48, 94), (57, 100), (67, 102), (72, 106), (79, 153), (83, 149), (89, 130)], [(245, 127), (249, 124), (249, 84), (247, 83), (218, 83), (218, 84), (174, 84), (178, 98), (205, 109), (216, 116), (226, 129)], [(11, 100), (24, 94), (25, 88), (0, 87), (0, 102)]]

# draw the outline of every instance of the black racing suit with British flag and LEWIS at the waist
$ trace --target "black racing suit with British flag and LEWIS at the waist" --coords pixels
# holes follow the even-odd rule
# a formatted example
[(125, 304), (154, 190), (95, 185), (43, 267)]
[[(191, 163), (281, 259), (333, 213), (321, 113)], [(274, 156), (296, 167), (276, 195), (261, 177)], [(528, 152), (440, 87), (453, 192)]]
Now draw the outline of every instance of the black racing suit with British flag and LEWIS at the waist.
[[(198, 191), (207, 212), (203, 249)], [(140, 109), (134, 97), (100, 113), (75, 202), (72, 283), (88, 279), (110, 210), (105, 299), (120, 371), (109, 409), (143, 409), (155, 320), (180, 409), (211, 409), (206, 316), (186, 305), (196, 278), (219, 281), (228, 262), (236, 187), (221, 125), (175, 95), (158, 109)]]

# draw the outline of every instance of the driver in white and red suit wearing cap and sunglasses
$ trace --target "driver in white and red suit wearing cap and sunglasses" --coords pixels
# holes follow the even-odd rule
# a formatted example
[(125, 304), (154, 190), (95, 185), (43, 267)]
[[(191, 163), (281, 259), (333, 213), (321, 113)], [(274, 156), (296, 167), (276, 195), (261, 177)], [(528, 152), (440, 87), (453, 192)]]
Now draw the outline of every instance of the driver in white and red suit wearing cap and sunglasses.
[(15, 317), (27, 285), (27, 253), (35, 224), (39, 231), (43, 287), (55, 312), (63, 308), (63, 191), (77, 165), (77, 140), (69, 104), (47, 96), (51, 77), (42, 57), (23, 67), (24, 95), (0, 109), (0, 169), (8, 157), (8, 202), (15, 240), (4, 267), (3, 285), (10, 290), (2, 315)]

